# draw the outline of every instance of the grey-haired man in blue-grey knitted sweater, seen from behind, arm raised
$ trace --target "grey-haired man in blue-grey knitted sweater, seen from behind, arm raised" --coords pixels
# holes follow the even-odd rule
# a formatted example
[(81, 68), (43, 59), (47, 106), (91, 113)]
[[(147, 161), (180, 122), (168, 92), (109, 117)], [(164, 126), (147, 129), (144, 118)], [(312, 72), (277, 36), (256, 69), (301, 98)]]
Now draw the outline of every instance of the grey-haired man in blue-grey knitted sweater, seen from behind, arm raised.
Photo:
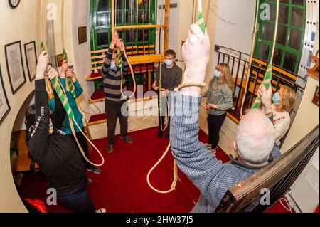
[[(182, 48), (186, 71), (183, 83), (202, 83), (210, 57), (210, 40), (193, 24)], [(198, 140), (201, 88), (186, 87), (173, 96), (171, 152), (178, 167), (201, 191), (193, 212), (213, 212), (231, 186), (267, 165), (274, 144), (271, 112), (272, 89), (262, 86), (263, 110), (250, 110), (242, 117), (235, 134), (238, 159), (223, 164)], [(182, 113), (181, 113), (182, 111)], [(267, 116), (266, 116), (267, 115)]]

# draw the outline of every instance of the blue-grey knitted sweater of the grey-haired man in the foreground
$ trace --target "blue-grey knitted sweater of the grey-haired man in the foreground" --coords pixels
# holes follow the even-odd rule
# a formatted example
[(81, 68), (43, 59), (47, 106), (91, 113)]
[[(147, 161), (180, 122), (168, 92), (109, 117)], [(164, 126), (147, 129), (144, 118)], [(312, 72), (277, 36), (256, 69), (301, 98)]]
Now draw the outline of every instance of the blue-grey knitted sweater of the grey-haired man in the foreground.
[(223, 164), (198, 139), (198, 113), (202, 97), (172, 94), (171, 152), (179, 169), (201, 191), (192, 212), (215, 211), (225, 192), (262, 167), (249, 167), (235, 160)]

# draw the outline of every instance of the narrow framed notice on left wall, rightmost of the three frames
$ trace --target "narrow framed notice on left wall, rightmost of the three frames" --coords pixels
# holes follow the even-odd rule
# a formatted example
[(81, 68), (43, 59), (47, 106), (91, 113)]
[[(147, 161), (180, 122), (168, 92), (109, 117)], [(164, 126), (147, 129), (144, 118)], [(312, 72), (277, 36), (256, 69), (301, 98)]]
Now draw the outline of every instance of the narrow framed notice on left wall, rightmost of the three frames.
[(26, 54), (26, 65), (30, 82), (36, 78), (37, 71), (37, 53), (36, 41), (24, 44), (24, 53)]

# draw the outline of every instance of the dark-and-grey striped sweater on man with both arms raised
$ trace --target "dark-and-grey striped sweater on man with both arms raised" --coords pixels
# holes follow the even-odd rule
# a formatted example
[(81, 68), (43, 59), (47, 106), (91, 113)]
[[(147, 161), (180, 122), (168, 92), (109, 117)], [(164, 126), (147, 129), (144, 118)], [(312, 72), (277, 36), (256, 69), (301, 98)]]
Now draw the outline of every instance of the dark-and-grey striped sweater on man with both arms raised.
[(103, 78), (103, 89), (105, 92), (105, 102), (110, 104), (122, 104), (127, 101), (127, 98), (122, 96), (121, 93), (121, 81), (122, 81), (122, 92), (124, 93), (126, 88), (126, 80), (124, 78), (124, 73), (128, 70), (128, 63), (122, 52), (122, 65), (123, 65), (123, 80), (121, 75), (121, 70), (119, 65), (116, 64), (116, 67), (111, 69), (110, 65), (112, 60), (115, 60), (117, 63), (117, 56), (114, 54), (112, 56), (113, 49), (109, 48), (105, 56), (105, 62), (102, 65), (101, 73)]

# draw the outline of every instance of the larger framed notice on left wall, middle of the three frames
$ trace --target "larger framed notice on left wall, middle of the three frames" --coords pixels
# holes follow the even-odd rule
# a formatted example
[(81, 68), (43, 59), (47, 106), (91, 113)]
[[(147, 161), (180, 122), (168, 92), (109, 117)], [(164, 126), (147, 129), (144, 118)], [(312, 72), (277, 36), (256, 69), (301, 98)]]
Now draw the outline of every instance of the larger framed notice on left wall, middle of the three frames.
[(6, 53), (6, 68), (8, 70), (11, 91), (15, 94), (24, 83), (26, 83), (26, 75), (24, 74), (21, 41), (9, 43), (4, 46)]

